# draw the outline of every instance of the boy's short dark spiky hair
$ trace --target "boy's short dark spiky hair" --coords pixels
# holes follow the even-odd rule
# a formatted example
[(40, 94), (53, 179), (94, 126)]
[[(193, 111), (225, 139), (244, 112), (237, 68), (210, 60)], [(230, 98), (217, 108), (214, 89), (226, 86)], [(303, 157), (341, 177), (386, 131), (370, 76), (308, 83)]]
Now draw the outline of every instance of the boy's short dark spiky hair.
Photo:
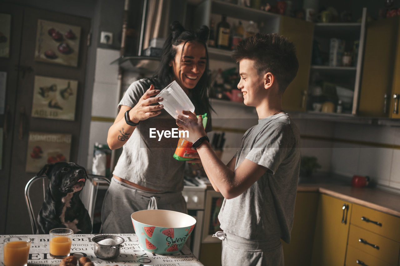
[(239, 42), (232, 58), (239, 63), (242, 59), (254, 60), (258, 75), (271, 72), (283, 93), (296, 77), (299, 63), (294, 44), (276, 33), (250, 36)]

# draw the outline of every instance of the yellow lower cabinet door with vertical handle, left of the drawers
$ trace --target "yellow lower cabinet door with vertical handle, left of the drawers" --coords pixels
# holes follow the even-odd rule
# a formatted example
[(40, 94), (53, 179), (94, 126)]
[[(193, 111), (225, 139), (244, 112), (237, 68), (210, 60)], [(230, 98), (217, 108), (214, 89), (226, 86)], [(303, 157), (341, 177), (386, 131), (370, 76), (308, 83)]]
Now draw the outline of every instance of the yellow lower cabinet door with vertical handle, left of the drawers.
[(344, 265), (351, 208), (349, 202), (320, 195), (310, 265)]

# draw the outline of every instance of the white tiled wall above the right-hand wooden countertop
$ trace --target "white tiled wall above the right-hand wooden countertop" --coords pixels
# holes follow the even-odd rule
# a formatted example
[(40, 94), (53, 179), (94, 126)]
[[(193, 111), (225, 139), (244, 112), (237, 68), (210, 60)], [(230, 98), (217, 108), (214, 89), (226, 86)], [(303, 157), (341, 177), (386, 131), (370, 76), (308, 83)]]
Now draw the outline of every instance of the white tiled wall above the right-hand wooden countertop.
[(397, 191), (400, 189), (400, 150), (384, 147), (400, 145), (400, 127), (322, 119), (294, 121), (301, 135), (316, 137), (302, 139), (302, 155), (317, 157), (322, 166), (319, 171), (349, 179), (353, 175), (368, 175), (380, 187), (400, 192)]

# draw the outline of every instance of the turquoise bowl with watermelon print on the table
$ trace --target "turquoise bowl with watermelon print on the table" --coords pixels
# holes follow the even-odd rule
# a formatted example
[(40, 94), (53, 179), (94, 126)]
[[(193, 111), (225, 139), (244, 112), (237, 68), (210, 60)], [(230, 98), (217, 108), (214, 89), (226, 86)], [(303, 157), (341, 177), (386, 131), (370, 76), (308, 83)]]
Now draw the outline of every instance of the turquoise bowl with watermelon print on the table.
[(142, 248), (160, 255), (180, 251), (196, 224), (192, 216), (172, 210), (139, 210), (131, 219)]

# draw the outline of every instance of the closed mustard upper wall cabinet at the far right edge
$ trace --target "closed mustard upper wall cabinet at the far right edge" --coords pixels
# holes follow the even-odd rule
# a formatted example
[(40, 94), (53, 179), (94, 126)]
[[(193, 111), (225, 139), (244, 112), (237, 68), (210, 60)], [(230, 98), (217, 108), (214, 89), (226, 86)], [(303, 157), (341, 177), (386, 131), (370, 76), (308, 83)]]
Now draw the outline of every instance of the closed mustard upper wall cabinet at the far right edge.
[(367, 24), (358, 113), (400, 118), (400, 17)]

